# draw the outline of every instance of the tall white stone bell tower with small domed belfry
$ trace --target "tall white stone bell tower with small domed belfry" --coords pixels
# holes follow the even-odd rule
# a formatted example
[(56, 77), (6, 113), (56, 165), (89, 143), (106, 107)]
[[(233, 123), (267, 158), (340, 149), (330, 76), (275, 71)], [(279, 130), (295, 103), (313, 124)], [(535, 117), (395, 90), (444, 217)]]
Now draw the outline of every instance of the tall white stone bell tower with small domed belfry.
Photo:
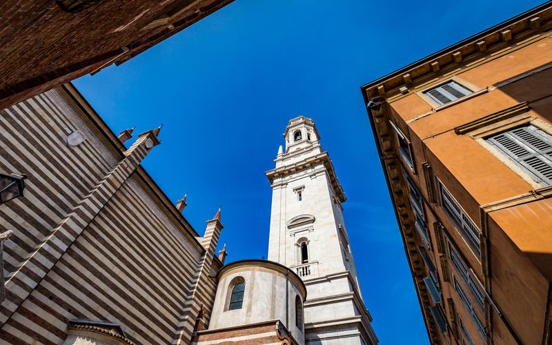
[(307, 288), (305, 341), (376, 344), (343, 219), (346, 201), (312, 119), (296, 117), (266, 172), (273, 189), (268, 259), (292, 269)]

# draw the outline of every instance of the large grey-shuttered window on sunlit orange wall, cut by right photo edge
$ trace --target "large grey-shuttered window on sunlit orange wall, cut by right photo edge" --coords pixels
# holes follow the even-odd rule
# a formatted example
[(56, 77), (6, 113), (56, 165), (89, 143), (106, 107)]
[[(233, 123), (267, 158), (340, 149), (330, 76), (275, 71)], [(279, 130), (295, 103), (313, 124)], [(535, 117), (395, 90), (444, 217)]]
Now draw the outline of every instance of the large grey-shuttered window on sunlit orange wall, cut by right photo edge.
[(486, 141), (528, 172), (539, 184), (552, 185), (552, 136), (533, 125), (506, 130)]

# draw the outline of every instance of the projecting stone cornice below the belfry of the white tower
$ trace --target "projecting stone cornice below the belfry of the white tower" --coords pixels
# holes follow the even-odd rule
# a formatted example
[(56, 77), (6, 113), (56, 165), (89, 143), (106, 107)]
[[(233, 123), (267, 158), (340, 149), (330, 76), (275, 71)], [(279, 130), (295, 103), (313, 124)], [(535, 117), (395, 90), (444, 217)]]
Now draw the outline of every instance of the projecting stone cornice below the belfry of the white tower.
[(333, 163), (330, 159), (330, 156), (328, 155), (328, 152), (322, 152), (317, 155), (303, 159), (302, 161), (297, 161), (293, 164), (288, 164), (286, 166), (281, 166), (279, 168), (268, 170), (267, 172), (265, 172), (265, 175), (266, 177), (268, 177), (268, 181), (270, 181), (270, 184), (273, 184), (274, 179), (277, 177), (287, 176), (296, 172), (306, 170), (314, 164), (324, 164), (324, 168), (328, 173), (328, 179), (331, 183), (335, 197), (337, 197), (337, 200), (339, 202), (345, 202), (347, 198), (345, 197), (345, 193), (341, 184), (339, 184), (339, 180), (337, 179), (337, 175), (335, 174), (335, 168), (333, 167)]

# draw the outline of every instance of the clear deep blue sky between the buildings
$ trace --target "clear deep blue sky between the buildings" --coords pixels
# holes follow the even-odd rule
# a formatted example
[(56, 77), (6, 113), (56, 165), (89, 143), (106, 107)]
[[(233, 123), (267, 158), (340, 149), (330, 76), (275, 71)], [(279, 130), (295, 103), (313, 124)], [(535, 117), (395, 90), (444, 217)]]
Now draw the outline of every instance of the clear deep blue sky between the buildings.
[(266, 257), (289, 119), (312, 117), (348, 201), (346, 226), (381, 344), (427, 344), (359, 86), (541, 1), (236, 0), (75, 85), (113, 131), (164, 124), (144, 167), (202, 235), (222, 206), (227, 262)]

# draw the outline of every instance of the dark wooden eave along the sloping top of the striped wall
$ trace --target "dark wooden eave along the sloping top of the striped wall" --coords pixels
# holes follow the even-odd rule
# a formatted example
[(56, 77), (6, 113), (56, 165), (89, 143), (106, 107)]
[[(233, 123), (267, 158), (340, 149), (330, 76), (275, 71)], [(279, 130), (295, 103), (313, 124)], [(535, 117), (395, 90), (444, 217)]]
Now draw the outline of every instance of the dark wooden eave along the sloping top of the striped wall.
[[(127, 150), (126, 146), (119, 140), (117, 135), (109, 128), (109, 126), (101, 119), (96, 110), (90, 106), (90, 103), (81, 95), (79, 90), (73, 86), (72, 83), (66, 83), (57, 88), (57, 90), (65, 97), (75, 108), (81, 110), (81, 115), (85, 120), (88, 120), (92, 126), (102, 136), (108, 149), (115, 152), (120, 159), (125, 157), (124, 152)], [(144, 170), (140, 165), (135, 170), (135, 174), (139, 177), (139, 180), (146, 186), (146, 192), (152, 197), (154, 201), (163, 209), (169, 217), (172, 217), (176, 221), (181, 233), (198, 248), (201, 252), (204, 252), (203, 246), (199, 243), (196, 237), (200, 237), (193, 226), (186, 220), (186, 218), (177, 210), (175, 204), (167, 197), (167, 195), (159, 188), (152, 177)]]

